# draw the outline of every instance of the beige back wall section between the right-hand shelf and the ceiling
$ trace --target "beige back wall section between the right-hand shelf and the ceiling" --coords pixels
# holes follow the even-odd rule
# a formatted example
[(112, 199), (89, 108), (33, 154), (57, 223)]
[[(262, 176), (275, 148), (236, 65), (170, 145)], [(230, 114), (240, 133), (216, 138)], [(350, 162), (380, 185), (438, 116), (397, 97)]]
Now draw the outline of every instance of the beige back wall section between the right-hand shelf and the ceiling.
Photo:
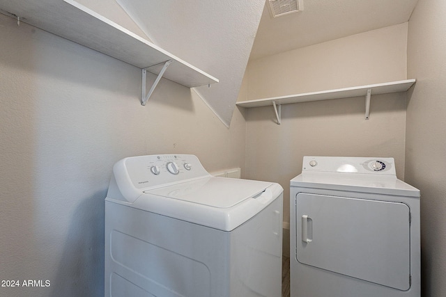
[(247, 99), (406, 79), (407, 27), (385, 27), (249, 61)]

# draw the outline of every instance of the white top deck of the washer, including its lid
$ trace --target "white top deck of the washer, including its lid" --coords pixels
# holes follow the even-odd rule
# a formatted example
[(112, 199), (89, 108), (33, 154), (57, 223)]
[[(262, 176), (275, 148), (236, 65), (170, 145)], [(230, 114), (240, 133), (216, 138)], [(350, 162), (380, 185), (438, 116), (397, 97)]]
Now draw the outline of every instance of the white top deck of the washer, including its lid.
[[(144, 191), (134, 202), (106, 198), (153, 214), (232, 231), (259, 214), (277, 198), (282, 199), (279, 184), (247, 179), (205, 177)], [(282, 210), (277, 210), (280, 214)]]

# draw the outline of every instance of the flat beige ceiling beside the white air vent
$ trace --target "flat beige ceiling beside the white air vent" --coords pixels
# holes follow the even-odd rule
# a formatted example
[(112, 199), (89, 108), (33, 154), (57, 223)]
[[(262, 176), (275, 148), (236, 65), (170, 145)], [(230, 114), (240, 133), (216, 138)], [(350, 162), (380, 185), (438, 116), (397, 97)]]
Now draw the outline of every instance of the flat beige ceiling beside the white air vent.
[[(267, 0), (268, 1), (268, 0)], [(270, 17), (267, 6), (250, 59), (408, 22), (418, 0), (302, 0), (304, 10)]]

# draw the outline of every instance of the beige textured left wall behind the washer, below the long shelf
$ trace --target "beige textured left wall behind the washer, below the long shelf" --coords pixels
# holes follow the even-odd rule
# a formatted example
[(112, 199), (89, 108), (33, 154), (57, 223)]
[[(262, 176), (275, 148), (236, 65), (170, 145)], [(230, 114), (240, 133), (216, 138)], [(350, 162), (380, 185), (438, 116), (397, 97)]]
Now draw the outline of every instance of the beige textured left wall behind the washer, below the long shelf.
[(51, 283), (0, 296), (103, 296), (113, 164), (187, 153), (243, 172), (245, 120), (224, 127), (164, 79), (141, 106), (138, 68), (1, 14), (0, 28), (0, 275)]

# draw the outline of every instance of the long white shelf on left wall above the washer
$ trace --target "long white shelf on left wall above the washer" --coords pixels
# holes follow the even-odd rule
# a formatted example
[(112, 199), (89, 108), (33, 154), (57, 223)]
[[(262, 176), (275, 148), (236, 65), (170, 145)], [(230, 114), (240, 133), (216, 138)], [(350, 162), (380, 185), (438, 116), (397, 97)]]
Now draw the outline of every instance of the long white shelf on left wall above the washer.
[[(20, 22), (26, 22), (158, 76), (164, 65), (171, 61), (169, 69), (164, 69), (161, 76), (188, 88), (218, 82), (210, 74), (74, 0), (63, 0), (54, 5), (48, 5), (45, 1), (0, 0), (0, 8), (3, 13), (20, 17)], [(159, 76), (158, 81), (160, 78)], [(143, 95), (141, 102), (145, 101), (146, 95)]]

